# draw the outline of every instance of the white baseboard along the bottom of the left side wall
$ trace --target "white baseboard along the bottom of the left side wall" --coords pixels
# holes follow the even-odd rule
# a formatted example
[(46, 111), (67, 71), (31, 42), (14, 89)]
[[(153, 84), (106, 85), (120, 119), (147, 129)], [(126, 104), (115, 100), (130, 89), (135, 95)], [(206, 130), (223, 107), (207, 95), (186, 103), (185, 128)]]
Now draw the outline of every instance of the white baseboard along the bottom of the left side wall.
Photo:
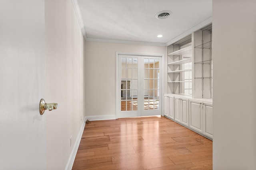
[(76, 138), (76, 142), (74, 143), (74, 147), (73, 147), (72, 152), (69, 156), (68, 164), (66, 165), (65, 170), (72, 170), (72, 167), (73, 167), (73, 164), (74, 164), (74, 161), (75, 161), (75, 158), (76, 158), (76, 153), (77, 153), (77, 150), (78, 150), (78, 147), (80, 145), (80, 141), (81, 141), (81, 138), (82, 138), (82, 135), (83, 135), (83, 132), (84, 132), (85, 120), (86, 120), (86, 118), (84, 118), (83, 124), (82, 124), (81, 129), (80, 129), (80, 131), (78, 133), (78, 136)]

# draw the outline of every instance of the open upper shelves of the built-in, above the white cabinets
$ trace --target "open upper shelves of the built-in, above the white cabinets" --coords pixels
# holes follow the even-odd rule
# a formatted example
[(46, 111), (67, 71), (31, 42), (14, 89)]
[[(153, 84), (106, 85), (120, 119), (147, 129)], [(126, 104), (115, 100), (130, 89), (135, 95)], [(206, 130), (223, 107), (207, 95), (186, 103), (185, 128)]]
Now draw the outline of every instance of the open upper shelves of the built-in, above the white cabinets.
[(212, 25), (167, 48), (168, 94), (212, 99)]

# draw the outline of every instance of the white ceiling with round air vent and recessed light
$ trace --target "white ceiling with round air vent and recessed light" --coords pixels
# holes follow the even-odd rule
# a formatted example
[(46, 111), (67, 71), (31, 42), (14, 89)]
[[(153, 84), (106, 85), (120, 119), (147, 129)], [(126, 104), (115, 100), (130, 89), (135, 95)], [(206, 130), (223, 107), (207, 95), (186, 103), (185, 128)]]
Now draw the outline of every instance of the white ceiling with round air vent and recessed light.
[[(165, 46), (212, 21), (212, 0), (73, 0), (73, 4), (88, 41)], [(157, 19), (164, 10), (171, 16)]]

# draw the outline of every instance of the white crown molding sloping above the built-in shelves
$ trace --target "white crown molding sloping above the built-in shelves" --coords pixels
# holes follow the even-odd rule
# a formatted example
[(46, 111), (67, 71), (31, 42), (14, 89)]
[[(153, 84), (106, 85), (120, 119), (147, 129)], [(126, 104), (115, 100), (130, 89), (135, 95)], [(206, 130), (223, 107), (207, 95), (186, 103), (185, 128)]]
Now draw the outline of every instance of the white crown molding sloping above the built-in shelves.
[(178, 35), (177, 37), (171, 39), (170, 41), (168, 41), (168, 42), (166, 43), (166, 46), (171, 45), (171, 44), (175, 43), (176, 41), (179, 41), (180, 39), (186, 37), (187, 35), (191, 34), (191, 33), (194, 32), (194, 31), (197, 31), (198, 29), (204, 27), (205, 25), (208, 25), (208, 24), (211, 23), (211, 22), (212, 22), (212, 16), (210, 16), (210, 17), (207, 18), (206, 20), (204, 20), (204, 21), (198, 23), (197, 25), (195, 25), (194, 27), (188, 29), (187, 31), (185, 31), (184, 33)]

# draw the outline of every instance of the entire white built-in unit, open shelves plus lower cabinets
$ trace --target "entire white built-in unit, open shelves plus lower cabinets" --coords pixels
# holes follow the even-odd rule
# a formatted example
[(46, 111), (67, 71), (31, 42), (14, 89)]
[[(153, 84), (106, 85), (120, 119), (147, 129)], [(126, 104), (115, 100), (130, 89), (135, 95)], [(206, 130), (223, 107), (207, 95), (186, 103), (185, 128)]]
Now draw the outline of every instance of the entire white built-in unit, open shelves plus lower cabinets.
[(212, 25), (169, 45), (167, 54), (164, 115), (212, 139)]

